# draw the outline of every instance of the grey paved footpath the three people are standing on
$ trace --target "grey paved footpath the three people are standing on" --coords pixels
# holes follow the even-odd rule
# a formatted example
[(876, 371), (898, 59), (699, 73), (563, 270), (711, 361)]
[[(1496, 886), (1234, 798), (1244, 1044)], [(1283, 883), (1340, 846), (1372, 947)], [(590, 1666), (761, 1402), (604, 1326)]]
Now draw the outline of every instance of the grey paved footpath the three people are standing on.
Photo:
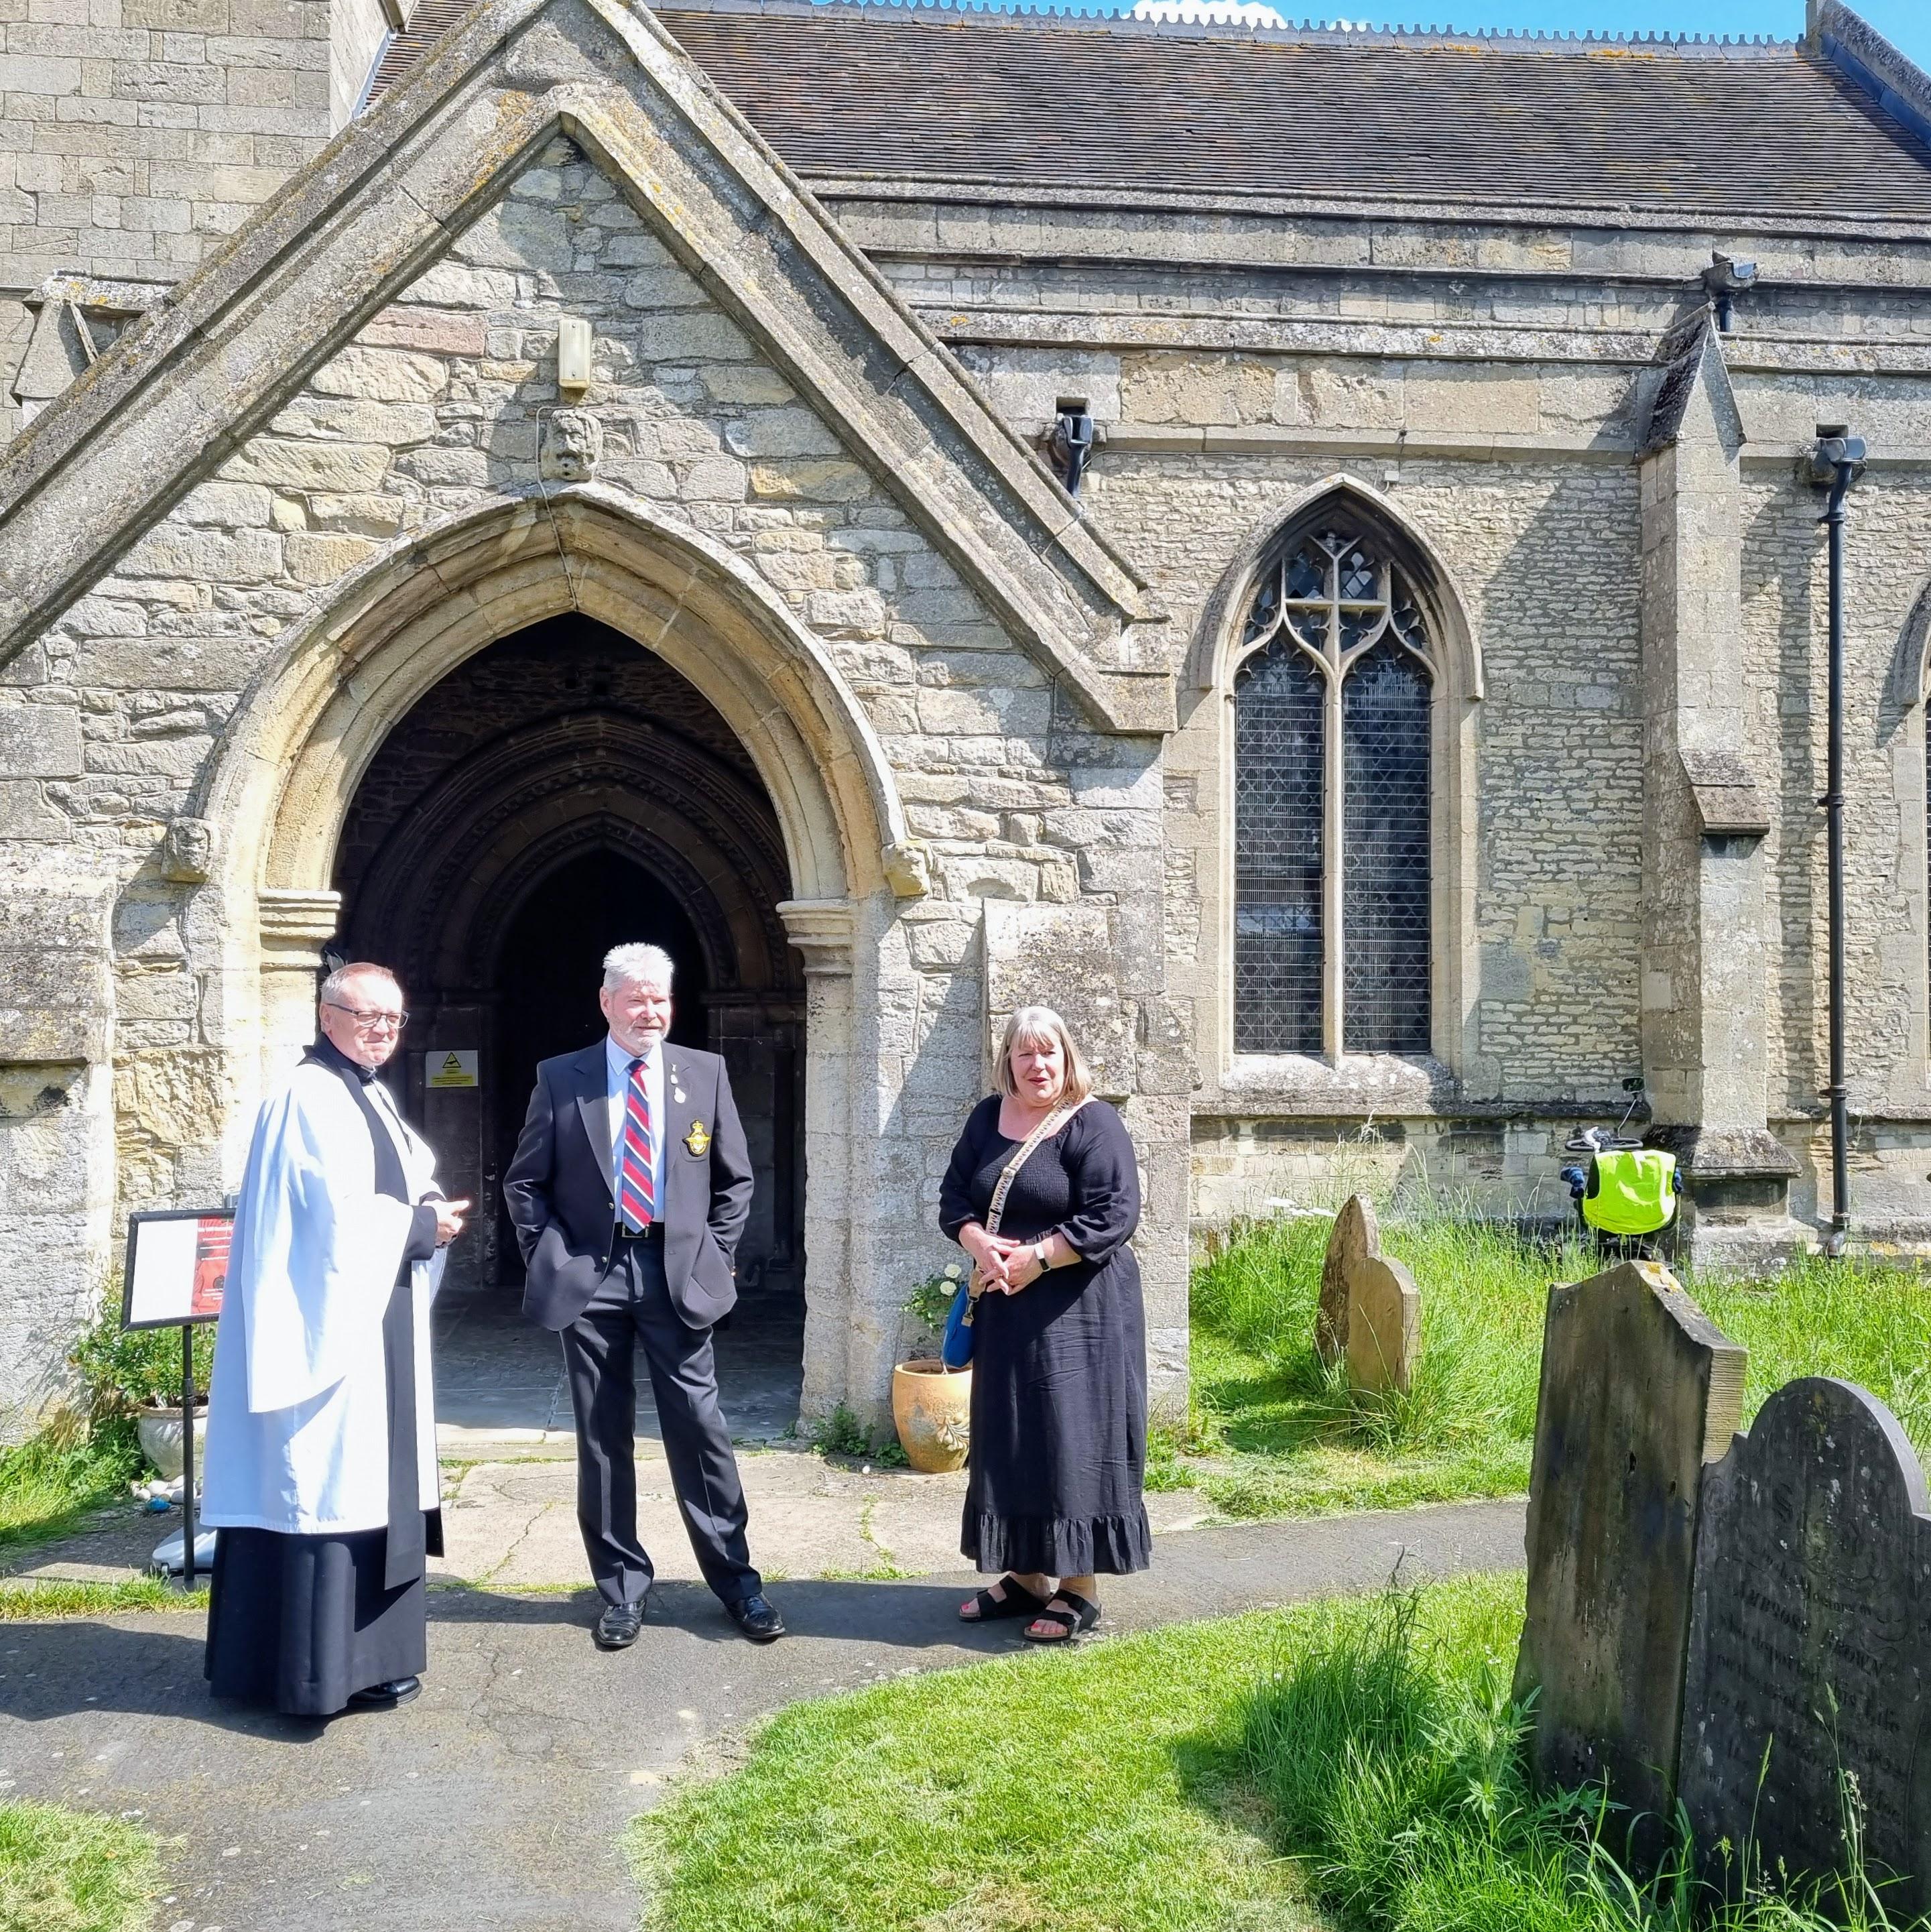
[[(759, 1461), (747, 1459), (747, 1478)], [(942, 1488), (925, 1490), (929, 1503), (917, 1490), (894, 1495), (894, 1482), (948, 1478), (881, 1480), (823, 1463), (813, 1478), (807, 1463), (817, 1459), (786, 1459), (759, 1488), (782, 1482), (809, 1501), (813, 1482), (850, 1474), (871, 1532), (852, 1567), (884, 1561), (879, 1524), (896, 1522), (894, 1511), (929, 1519), (919, 1540), (894, 1530), (904, 1569), (958, 1507)], [(630, 1932), (637, 1897), (624, 1826), (693, 1748), (798, 1698), (1018, 1648), (1012, 1625), (969, 1631), (954, 1619), (973, 1586), (964, 1571), (805, 1577), (809, 1553), (801, 1544), (792, 1553), (786, 1513), (772, 1507), (753, 1524), (767, 1526), (767, 1559), (792, 1553), (794, 1580), (772, 1586), (790, 1638), (747, 1644), (701, 1584), (672, 1577), (635, 1648), (604, 1656), (589, 1638), (589, 1592), (502, 1580), (537, 1567), (529, 1538), (550, 1538), (546, 1519), (568, 1524), (541, 1466), (485, 1468), (490, 1490), (537, 1484), (519, 1505), (529, 1526), (521, 1546), (483, 1565), (496, 1578), (433, 1592), (431, 1671), (415, 1704), (326, 1725), (218, 1706), (201, 1679), (199, 1615), (0, 1623), (0, 1791), (139, 1812), (174, 1837), (158, 1932)], [(477, 1474), (465, 1472), (456, 1501)], [(552, 1468), (552, 1482), (566, 1474)], [(1178, 1501), (1191, 1499), (1149, 1497), (1168, 1526), (1153, 1571), (1108, 1586), (1108, 1629), (1371, 1590), (1396, 1563), (1404, 1580), (1522, 1563), (1520, 1501), (1238, 1528), (1172, 1526)], [(496, 1507), (477, 1497), (479, 1517)], [(452, 1528), (460, 1520), (452, 1509)], [(151, 1526), (139, 1534), (153, 1540)], [(676, 1548), (687, 1569), (682, 1538), (660, 1536), (658, 1548), (666, 1557)], [(570, 1555), (581, 1565), (581, 1551)], [(35, 1567), (98, 1575), (106, 1565)]]

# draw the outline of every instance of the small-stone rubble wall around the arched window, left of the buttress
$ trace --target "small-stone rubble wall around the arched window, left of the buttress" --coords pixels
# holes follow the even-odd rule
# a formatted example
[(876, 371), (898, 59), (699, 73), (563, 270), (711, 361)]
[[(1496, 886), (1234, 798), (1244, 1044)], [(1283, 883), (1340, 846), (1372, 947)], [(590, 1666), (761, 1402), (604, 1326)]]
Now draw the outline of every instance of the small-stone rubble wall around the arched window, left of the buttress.
[[(1346, 458), (1122, 456), (1095, 479), (1093, 502), (1149, 570), (1184, 636), (1234, 560), (1336, 471), (1371, 487), (1385, 481), (1381, 464)], [(1466, 1097), (1612, 1090), (1620, 1076), (1605, 1070), (1639, 1063), (1630, 972), (1641, 875), (1634, 475), (1609, 466), (1498, 471), (1421, 462), (1404, 466), (1390, 495), (1435, 553), (1452, 558), (1489, 676), (1475, 798), (1483, 1001)], [(1218, 1043), (1224, 997), (1211, 937), (1220, 929), (1220, 699), (1189, 701), (1193, 715), (1168, 763), (1176, 777), (1197, 773), (1195, 806), (1207, 804), (1197, 815), (1211, 842), (1193, 846), (1188, 875), (1176, 879), (1176, 896), (1191, 900), (1189, 920), (1207, 935), (1193, 949), (1191, 985), (1205, 1047)]]

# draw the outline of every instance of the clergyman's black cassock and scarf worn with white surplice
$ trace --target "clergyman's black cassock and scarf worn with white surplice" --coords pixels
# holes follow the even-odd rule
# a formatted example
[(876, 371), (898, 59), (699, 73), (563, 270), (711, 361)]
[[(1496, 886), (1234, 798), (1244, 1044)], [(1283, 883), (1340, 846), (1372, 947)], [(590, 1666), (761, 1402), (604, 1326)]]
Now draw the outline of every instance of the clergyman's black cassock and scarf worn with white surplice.
[[(378, 1194), (406, 1202), (402, 1155), (369, 1099), (373, 1070), (332, 1041), (303, 1059), (338, 1074), (375, 1146)], [(350, 1536), (218, 1530), (209, 1602), (207, 1677), (216, 1696), (328, 1718), (350, 1696), (429, 1665), (425, 1559), (442, 1555), (442, 1511), (423, 1509), (415, 1441), (415, 1306), (409, 1271), (436, 1248), (436, 1213), (419, 1208), (396, 1289), (382, 1310), (388, 1381), (388, 1526)]]

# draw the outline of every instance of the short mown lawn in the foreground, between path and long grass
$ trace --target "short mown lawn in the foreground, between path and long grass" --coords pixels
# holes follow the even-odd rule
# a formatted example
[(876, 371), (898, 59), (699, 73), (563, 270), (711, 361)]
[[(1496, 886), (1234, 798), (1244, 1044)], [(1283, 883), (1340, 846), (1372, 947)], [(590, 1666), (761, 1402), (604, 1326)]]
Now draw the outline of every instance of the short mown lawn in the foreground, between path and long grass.
[(1238, 1776), (1278, 1619), (794, 1704), (639, 1820), (658, 1932), (1288, 1932), (1317, 1924)]

